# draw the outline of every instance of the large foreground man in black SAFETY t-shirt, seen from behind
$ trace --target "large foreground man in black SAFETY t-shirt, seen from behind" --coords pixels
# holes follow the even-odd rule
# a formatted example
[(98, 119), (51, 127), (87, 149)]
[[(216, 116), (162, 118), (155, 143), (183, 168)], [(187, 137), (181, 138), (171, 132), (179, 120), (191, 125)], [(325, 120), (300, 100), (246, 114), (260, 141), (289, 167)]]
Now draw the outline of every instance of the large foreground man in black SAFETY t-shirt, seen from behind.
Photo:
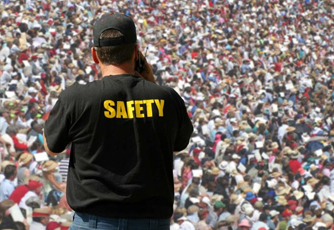
[(63, 91), (44, 129), (50, 155), (71, 145), (71, 229), (167, 230), (173, 152), (186, 148), (193, 131), (184, 102), (155, 84), (130, 17), (102, 13), (93, 37), (102, 80)]

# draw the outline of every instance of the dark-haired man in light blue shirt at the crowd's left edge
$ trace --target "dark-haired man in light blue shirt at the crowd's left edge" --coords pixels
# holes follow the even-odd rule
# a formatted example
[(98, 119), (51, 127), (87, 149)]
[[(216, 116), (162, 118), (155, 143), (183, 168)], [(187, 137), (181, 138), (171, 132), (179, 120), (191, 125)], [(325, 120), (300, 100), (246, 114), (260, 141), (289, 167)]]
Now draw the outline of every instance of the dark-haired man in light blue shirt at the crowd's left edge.
[(7, 165), (4, 170), (5, 179), (1, 182), (0, 185), (0, 202), (8, 199), (9, 196), (15, 189), (14, 180), (16, 178), (16, 167), (15, 165)]

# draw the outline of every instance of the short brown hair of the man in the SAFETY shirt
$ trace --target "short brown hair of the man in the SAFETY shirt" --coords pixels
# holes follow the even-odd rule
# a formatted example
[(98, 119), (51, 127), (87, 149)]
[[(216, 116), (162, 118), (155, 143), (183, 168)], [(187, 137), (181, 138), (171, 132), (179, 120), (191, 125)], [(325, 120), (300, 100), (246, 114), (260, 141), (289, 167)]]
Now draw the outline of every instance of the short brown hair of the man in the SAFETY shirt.
[[(123, 34), (118, 30), (106, 30), (100, 35), (100, 39), (117, 38)], [(120, 65), (130, 61), (136, 44), (122, 44), (117, 46), (95, 47), (97, 56), (101, 63), (105, 65)]]

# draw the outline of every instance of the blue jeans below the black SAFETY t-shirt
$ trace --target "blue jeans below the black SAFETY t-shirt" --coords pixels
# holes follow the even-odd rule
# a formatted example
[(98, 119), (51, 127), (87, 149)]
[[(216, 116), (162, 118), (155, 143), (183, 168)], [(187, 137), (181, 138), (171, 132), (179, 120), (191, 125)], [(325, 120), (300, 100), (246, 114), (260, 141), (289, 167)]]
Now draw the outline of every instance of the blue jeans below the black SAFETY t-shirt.
[(169, 219), (105, 218), (75, 213), (69, 230), (169, 230)]

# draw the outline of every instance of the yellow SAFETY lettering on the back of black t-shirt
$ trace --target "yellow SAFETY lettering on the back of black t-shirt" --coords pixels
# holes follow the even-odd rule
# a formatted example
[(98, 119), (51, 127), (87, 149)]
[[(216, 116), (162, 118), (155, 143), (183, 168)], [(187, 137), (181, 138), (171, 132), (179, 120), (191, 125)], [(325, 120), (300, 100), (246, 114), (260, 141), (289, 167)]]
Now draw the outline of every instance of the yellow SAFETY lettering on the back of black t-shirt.
[(132, 100), (132, 101), (113, 101), (105, 100), (103, 107), (105, 108), (104, 116), (106, 118), (145, 118), (153, 117), (153, 108), (158, 111), (159, 117), (164, 116), (164, 100), (148, 99), (148, 100)]

